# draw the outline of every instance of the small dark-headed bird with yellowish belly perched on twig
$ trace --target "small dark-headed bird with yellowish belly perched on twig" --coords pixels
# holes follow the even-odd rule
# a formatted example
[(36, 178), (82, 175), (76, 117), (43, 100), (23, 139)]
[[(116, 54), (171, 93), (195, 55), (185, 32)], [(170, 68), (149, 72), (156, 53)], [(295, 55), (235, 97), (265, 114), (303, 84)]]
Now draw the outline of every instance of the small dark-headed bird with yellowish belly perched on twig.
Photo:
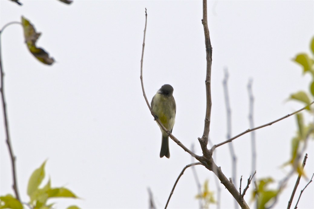
[[(173, 98), (172, 93), (172, 86), (165, 84), (157, 91), (151, 102), (151, 107), (155, 117), (160, 120), (162, 125), (164, 125), (170, 133), (172, 133), (176, 117), (176, 101)], [(166, 156), (166, 158), (170, 158), (169, 135), (166, 131), (162, 130), (161, 127), (160, 130), (162, 134), (160, 158), (164, 156)]]

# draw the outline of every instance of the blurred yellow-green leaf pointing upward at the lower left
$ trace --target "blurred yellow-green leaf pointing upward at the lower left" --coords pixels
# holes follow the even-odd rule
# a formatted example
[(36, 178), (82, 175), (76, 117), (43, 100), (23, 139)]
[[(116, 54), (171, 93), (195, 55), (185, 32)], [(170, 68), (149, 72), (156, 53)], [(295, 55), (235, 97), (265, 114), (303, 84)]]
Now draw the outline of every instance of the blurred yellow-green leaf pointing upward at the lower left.
[(36, 169), (30, 176), (27, 186), (27, 195), (32, 199), (33, 193), (38, 189), (38, 186), (41, 184), (42, 180), (45, 177), (45, 164), (46, 160), (41, 164), (41, 167)]

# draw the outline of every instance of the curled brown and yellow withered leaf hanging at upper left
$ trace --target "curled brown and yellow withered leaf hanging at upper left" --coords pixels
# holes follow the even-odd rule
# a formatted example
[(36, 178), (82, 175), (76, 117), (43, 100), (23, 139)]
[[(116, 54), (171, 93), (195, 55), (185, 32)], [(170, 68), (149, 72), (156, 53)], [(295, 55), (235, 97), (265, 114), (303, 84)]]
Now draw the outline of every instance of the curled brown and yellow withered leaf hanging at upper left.
[(23, 16), (22, 25), (24, 29), (25, 42), (30, 52), (42, 63), (51, 65), (54, 62), (54, 59), (49, 57), (49, 54), (45, 50), (37, 48), (36, 46), (36, 41), (41, 33), (37, 33), (34, 26), (30, 24), (30, 21), (25, 19)]

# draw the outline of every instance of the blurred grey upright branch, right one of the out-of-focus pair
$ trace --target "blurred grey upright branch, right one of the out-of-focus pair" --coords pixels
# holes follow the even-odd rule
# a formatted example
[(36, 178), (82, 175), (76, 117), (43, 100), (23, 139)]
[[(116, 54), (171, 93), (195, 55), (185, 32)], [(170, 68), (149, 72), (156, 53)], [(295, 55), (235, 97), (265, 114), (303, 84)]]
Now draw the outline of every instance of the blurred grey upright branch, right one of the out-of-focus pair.
[[(249, 93), (249, 121), (250, 121), (250, 129), (254, 128), (254, 121), (253, 121), (253, 105), (254, 105), (254, 97), (252, 92), (252, 79), (249, 80), (249, 83), (247, 84), (247, 91)], [(256, 170), (256, 144), (255, 144), (255, 131), (251, 131), (251, 149), (252, 149), (252, 170), (251, 175)], [(253, 177), (254, 178), (254, 177)], [(254, 181), (254, 179), (253, 179)]]

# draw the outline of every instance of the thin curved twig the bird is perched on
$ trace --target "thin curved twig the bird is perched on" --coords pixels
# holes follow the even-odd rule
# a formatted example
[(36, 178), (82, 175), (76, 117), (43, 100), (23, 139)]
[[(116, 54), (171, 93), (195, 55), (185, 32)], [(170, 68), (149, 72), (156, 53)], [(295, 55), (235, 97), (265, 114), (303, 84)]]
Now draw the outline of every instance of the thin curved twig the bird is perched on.
[(146, 97), (145, 94), (145, 90), (144, 90), (144, 84), (143, 84), (143, 57), (144, 57), (144, 47), (145, 47), (145, 35), (146, 35), (146, 25), (147, 25), (147, 9), (145, 8), (145, 29), (144, 29), (144, 37), (143, 37), (143, 48), (142, 48), (142, 58), (141, 58), (141, 85), (142, 85), (142, 91), (143, 91), (143, 96), (145, 98), (146, 104), (150, 110), (150, 113), (153, 115), (154, 119), (157, 121), (157, 123), (160, 125), (160, 127), (162, 128), (162, 130), (166, 131), (169, 134), (169, 137), (176, 142), (180, 147), (182, 147), (184, 149), (184, 151), (186, 151), (187, 153), (189, 153), (190, 155), (192, 155), (192, 157), (196, 158), (197, 160), (200, 160), (200, 156), (196, 155), (195, 153), (193, 153), (191, 150), (189, 150), (187, 147), (185, 147), (175, 136), (173, 136), (169, 130), (167, 130), (165, 128), (165, 126), (160, 122), (160, 120), (158, 118), (155, 118), (155, 114), (152, 110), (152, 108), (149, 105), (148, 99)]

